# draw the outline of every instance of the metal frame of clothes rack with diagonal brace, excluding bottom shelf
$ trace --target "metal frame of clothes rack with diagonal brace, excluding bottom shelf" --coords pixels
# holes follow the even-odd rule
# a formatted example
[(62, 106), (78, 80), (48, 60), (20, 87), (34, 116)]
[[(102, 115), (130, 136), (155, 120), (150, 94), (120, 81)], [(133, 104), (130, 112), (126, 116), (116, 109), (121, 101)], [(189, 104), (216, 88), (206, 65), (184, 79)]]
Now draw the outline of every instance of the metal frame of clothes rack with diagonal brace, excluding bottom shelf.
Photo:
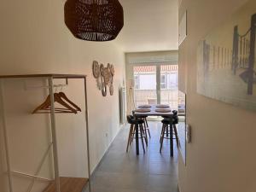
[[(50, 121), (51, 121), (51, 143), (47, 151), (44, 154), (40, 165), (38, 166), (37, 172), (35, 175), (30, 175), (21, 172), (14, 172), (11, 170), (10, 165), (10, 156), (9, 156), (9, 141), (8, 141), (8, 132), (6, 125), (6, 118), (4, 114), (4, 98), (3, 98), (3, 80), (4, 79), (47, 79), (48, 86), (44, 86), (49, 90), (50, 102), (51, 102), (51, 111), (50, 111)], [(4, 137), (4, 147), (5, 147), (5, 158), (7, 162), (7, 173), (8, 173), (8, 181), (9, 181), (9, 192), (13, 192), (13, 181), (12, 175), (17, 174), (26, 177), (32, 177), (32, 183), (29, 186), (28, 191), (32, 190), (33, 184), (36, 179), (44, 180), (46, 182), (49, 179), (44, 177), (38, 177), (38, 174), (41, 170), (41, 167), (44, 163), (44, 159), (47, 154), (49, 154), (49, 148), (53, 148), (53, 158), (54, 158), (54, 167), (55, 167), (55, 189), (56, 192), (61, 192), (61, 183), (60, 183), (60, 175), (59, 175), (59, 164), (58, 164), (58, 148), (57, 148), (57, 137), (56, 137), (56, 124), (55, 124), (55, 101), (54, 101), (54, 88), (59, 86), (64, 86), (61, 84), (54, 84), (54, 79), (66, 79), (66, 84), (68, 84), (68, 79), (84, 79), (84, 101), (85, 101), (85, 121), (86, 121), (86, 142), (87, 142), (87, 169), (88, 169), (88, 182), (89, 182), (89, 190), (90, 190), (90, 141), (89, 141), (89, 124), (88, 124), (88, 107), (87, 107), (87, 85), (86, 85), (86, 76), (81, 74), (26, 74), (26, 75), (3, 75), (0, 76), (0, 110), (1, 110), (1, 118), (3, 123), (3, 137)]]

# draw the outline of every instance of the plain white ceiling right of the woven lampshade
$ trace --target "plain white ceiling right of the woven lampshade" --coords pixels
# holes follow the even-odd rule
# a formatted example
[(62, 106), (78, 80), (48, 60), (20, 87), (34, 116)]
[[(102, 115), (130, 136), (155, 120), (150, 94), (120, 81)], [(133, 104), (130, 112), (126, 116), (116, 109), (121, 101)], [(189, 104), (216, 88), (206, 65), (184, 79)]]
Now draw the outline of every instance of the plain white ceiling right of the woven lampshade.
[(125, 52), (177, 49), (178, 0), (119, 0), (125, 26), (115, 40)]

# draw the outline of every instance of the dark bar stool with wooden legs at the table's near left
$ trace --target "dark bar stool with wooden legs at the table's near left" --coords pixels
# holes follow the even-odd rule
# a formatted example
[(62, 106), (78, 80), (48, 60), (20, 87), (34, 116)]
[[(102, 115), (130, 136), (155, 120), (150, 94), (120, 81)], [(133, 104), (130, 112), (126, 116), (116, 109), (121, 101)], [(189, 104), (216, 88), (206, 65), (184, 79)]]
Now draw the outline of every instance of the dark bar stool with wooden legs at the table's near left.
[(136, 123), (138, 124), (138, 131), (139, 131), (138, 133), (141, 136), (141, 137), (139, 137), (139, 139), (142, 140), (143, 152), (145, 153), (145, 147), (144, 147), (143, 139), (145, 139), (145, 143), (148, 146), (148, 139), (145, 136), (145, 131), (144, 131), (144, 128), (143, 128), (143, 124), (144, 124), (145, 121), (143, 119), (137, 119), (137, 122), (136, 122), (136, 119), (132, 115), (127, 115), (127, 122), (129, 124), (131, 124), (131, 127), (130, 127), (130, 132), (129, 132), (129, 137), (128, 137), (128, 143), (127, 143), (127, 147), (126, 147), (126, 153), (128, 152), (128, 148), (129, 148), (129, 146), (131, 145), (131, 143), (134, 139), (134, 135), (136, 133), (136, 129), (135, 129)]

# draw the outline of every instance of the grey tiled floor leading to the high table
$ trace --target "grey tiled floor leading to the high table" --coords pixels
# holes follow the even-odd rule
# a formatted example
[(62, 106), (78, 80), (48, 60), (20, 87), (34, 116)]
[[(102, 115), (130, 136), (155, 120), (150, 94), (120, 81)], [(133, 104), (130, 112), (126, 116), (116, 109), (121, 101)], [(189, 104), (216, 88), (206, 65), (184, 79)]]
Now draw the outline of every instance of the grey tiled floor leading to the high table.
[(177, 146), (170, 157), (169, 142), (160, 149), (160, 123), (149, 122), (151, 139), (146, 153), (136, 155), (135, 143), (125, 152), (128, 125), (119, 132), (92, 177), (93, 192), (177, 192)]

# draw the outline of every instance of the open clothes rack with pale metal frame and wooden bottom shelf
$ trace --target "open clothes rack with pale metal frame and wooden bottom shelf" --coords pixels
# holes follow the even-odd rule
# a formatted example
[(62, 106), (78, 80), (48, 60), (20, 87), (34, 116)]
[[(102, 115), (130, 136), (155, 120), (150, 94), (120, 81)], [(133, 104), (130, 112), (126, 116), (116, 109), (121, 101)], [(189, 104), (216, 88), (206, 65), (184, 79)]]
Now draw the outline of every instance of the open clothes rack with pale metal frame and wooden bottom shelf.
[[(4, 114), (4, 98), (3, 98), (3, 81), (4, 79), (45, 79), (48, 82), (47, 88), (49, 90), (49, 96), (51, 101), (51, 111), (50, 111), (50, 129), (51, 129), (51, 143), (49, 148), (53, 148), (53, 159), (54, 159), (54, 174), (55, 180), (49, 180), (48, 178), (38, 177), (38, 175), (29, 175), (22, 172), (12, 172), (10, 166), (9, 157), (9, 141), (7, 134), (7, 125), (5, 121)], [(57, 147), (57, 137), (56, 137), (56, 123), (55, 123), (55, 102), (54, 102), (54, 79), (66, 79), (66, 84), (68, 84), (68, 79), (84, 79), (84, 101), (85, 101), (85, 122), (86, 122), (86, 143), (87, 143), (87, 170), (88, 178), (79, 177), (60, 177), (59, 174), (59, 163), (58, 163), (58, 147)], [(7, 174), (9, 182), (9, 192), (13, 192), (13, 182), (12, 175), (18, 174), (26, 177), (32, 177), (34, 179), (41, 179), (49, 182), (49, 186), (44, 189), (44, 192), (81, 192), (85, 187), (89, 187), (90, 191), (90, 146), (89, 146), (89, 124), (88, 124), (88, 107), (87, 107), (87, 87), (86, 87), (86, 75), (82, 74), (26, 74), (26, 75), (3, 75), (0, 76), (0, 110), (2, 111), (3, 119), (3, 138), (4, 138), (4, 148), (5, 157), (7, 162)], [(48, 150), (49, 151), (49, 150)], [(46, 155), (46, 154), (45, 154)]]

